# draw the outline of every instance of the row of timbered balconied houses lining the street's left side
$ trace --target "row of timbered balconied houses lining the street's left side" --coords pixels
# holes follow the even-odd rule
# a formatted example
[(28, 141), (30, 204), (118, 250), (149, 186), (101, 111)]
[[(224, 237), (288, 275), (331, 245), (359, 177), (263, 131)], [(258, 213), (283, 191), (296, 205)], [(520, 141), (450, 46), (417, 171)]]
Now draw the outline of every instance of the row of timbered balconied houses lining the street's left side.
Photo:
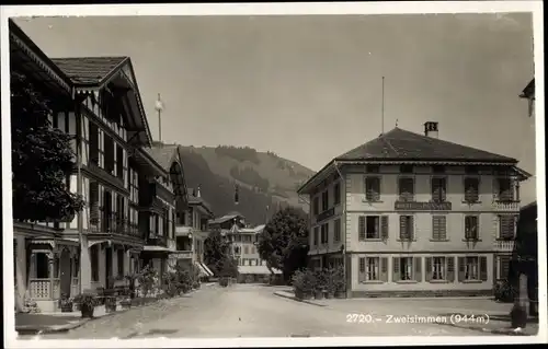
[(129, 57), (49, 58), (9, 22), (11, 71), (53, 101), (52, 127), (72, 136), (67, 187), (85, 201), (72, 219), (13, 222), (15, 299), (57, 310), (61, 294), (110, 289), (150, 266), (202, 276), (212, 219), (185, 184), (181, 148), (153, 142)]

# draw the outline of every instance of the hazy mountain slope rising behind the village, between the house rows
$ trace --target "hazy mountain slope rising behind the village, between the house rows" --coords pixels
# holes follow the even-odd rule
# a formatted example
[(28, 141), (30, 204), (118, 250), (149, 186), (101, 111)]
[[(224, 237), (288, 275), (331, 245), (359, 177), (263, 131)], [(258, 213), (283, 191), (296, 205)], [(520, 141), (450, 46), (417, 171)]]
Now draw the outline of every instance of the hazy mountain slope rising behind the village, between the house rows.
[[(202, 196), (216, 216), (238, 211), (259, 224), (272, 217), (278, 205), (308, 211), (296, 189), (313, 171), (296, 162), (251, 148), (182, 147), (181, 150), (187, 186), (201, 185)], [(239, 205), (233, 202), (235, 184), (240, 188)]]

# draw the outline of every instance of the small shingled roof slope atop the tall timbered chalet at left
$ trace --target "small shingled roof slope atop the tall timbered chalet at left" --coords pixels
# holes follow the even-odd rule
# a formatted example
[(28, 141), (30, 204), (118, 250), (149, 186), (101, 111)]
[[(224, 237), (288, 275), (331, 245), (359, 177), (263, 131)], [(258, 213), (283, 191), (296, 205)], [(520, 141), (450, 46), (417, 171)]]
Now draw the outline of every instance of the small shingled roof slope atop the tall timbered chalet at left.
[(53, 58), (57, 65), (76, 84), (101, 84), (116, 68), (129, 57), (69, 57)]

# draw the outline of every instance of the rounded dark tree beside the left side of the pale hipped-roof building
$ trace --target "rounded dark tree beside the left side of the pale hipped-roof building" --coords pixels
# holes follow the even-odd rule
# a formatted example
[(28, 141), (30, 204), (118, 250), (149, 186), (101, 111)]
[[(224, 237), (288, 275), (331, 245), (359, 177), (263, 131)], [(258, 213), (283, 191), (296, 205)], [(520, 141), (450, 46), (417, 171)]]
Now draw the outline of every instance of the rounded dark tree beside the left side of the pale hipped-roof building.
[(281, 269), (289, 280), (295, 270), (307, 265), (307, 214), (294, 207), (279, 210), (264, 228), (258, 247), (269, 268)]

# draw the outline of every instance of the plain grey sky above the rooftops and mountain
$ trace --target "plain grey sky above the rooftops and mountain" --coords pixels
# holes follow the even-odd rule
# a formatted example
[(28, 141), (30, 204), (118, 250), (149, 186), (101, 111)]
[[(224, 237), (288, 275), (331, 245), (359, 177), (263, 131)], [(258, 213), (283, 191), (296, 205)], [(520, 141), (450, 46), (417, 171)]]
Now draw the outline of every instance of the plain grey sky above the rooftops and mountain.
[[(385, 130), (423, 131), (535, 172), (530, 14), (55, 18), (16, 21), (49, 56), (130, 56), (150, 129), (271, 150), (318, 171)], [(534, 181), (523, 200), (534, 199)]]

